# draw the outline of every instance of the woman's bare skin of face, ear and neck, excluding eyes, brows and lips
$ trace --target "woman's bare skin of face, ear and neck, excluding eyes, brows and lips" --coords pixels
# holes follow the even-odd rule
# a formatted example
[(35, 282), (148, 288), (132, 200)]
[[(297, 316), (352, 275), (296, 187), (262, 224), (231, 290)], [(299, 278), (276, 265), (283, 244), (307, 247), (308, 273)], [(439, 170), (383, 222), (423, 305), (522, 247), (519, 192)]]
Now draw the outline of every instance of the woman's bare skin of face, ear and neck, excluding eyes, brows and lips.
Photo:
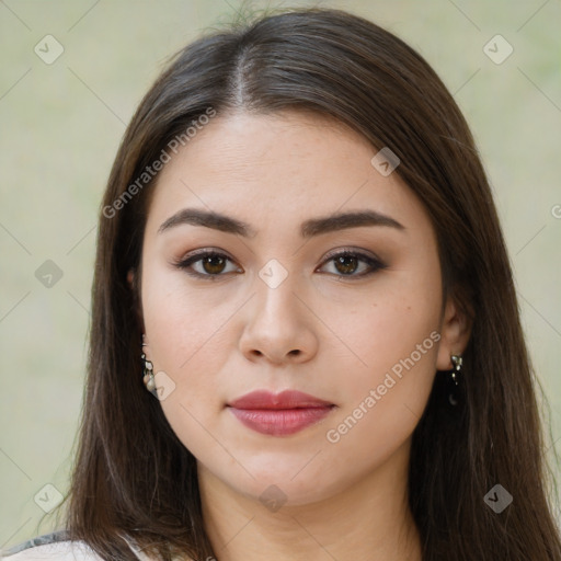
[[(261, 560), (264, 551), (273, 561), (421, 560), (407, 497), (411, 435), (436, 370), (451, 368), (469, 329), (453, 300), (442, 309), (424, 206), (397, 173), (383, 176), (371, 165), (377, 151), (323, 117), (236, 113), (214, 118), (160, 174), (141, 256), (145, 352), (174, 385), (160, 403), (197, 458), (205, 524), (220, 561)], [(257, 233), (185, 224), (158, 232), (186, 207), (229, 215)], [(300, 237), (306, 219), (366, 208), (404, 229)], [(222, 276), (194, 278), (173, 264), (204, 248), (231, 261), (192, 268)], [(358, 261), (344, 276), (327, 260), (337, 249), (374, 254), (386, 267), (359, 277), (369, 266)], [(273, 259), (287, 273), (276, 288), (259, 276)], [(329, 442), (327, 432), (432, 332), (439, 341)], [(294, 435), (262, 435), (226, 408), (255, 389), (298, 389), (336, 408)], [(260, 501), (273, 484), (286, 501), (276, 511)]]

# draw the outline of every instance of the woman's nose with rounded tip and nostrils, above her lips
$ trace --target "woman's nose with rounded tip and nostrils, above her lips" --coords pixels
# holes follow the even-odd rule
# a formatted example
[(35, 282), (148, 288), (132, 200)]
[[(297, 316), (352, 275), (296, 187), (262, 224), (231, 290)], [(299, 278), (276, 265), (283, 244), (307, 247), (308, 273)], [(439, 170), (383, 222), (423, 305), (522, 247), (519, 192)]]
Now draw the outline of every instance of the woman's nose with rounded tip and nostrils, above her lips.
[(318, 351), (313, 307), (297, 295), (291, 275), (277, 287), (267, 286), (261, 278), (256, 294), (245, 307), (240, 351), (252, 362), (265, 360), (275, 365), (297, 364), (311, 359)]

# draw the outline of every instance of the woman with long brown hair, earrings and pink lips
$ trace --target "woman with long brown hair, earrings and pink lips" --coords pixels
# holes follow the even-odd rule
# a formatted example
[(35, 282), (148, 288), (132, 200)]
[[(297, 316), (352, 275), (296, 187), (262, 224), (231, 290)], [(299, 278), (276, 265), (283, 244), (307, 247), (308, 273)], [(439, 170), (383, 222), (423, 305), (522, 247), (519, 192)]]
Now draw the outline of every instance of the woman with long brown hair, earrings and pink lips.
[(263, 16), (128, 126), (66, 528), (12, 559), (560, 560), (535, 385), (435, 72), (343, 11)]

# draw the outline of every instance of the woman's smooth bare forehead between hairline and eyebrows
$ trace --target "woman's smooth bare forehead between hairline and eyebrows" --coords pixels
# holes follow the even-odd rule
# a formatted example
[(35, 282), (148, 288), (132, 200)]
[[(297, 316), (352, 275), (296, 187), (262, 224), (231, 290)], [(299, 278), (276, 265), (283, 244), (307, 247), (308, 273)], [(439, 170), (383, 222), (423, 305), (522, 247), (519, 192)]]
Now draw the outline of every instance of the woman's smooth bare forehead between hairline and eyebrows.
[(147, 228), (187, 206), (237, 216), (257, 233), (347, 208), (426, 222), (423, 205), (398, 174), (373, 167), (377, 152), (360, 134), (314, 114), (217, 116), (160, 172)]

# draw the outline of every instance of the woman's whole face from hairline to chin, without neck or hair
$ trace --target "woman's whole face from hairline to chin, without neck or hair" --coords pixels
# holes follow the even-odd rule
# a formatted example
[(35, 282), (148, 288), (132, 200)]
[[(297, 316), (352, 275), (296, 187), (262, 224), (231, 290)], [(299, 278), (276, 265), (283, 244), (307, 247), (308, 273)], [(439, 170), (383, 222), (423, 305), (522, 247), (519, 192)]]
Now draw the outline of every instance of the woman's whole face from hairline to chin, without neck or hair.
[[(160, 174), (142, 249), (146, 354), (199, 473), (247, 496), (274, 484), (305, 504), (398, 458), (403, 470), (435, 370), (450, 367), (433, 227), (370, 162), (377, 151), (321, 117), (236, 114)], [(371, 215), (324, 221), (355, 213)], [(231, 407), (255, 390), (323, 407)]]

